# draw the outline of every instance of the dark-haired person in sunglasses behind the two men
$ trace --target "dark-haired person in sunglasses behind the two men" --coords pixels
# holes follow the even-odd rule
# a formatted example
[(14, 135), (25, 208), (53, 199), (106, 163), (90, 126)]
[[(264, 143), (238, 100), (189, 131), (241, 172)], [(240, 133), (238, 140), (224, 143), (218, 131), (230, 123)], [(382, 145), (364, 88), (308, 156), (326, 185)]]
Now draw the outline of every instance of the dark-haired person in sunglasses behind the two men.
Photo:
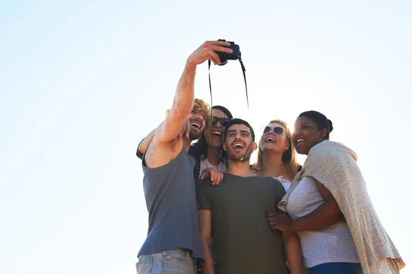
[(215, 168), (221, 173), (227, 169), (227, 156), (222, 150), (225, 135), (225, 125), (233, 118), (231, 112), (221, 105), (211, 108), (211, 124), (206, 125), (201, 138), (190, 147), (196, 165), (194, 166), (194, 177), (199, 179), (203, 170)]

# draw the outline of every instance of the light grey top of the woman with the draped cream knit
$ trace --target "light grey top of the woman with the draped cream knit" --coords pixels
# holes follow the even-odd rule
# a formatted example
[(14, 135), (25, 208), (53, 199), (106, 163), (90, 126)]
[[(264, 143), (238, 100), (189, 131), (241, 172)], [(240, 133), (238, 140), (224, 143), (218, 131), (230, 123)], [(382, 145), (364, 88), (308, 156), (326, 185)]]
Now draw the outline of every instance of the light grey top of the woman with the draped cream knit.
[[(312, 177), (304, 177), (290, 193), (286, 211), (293, 220), (317, 209), (323, 198)], [(297, 232), (306, 267), (326, 262), (361, 262), (346, 221), (319, 230)]]

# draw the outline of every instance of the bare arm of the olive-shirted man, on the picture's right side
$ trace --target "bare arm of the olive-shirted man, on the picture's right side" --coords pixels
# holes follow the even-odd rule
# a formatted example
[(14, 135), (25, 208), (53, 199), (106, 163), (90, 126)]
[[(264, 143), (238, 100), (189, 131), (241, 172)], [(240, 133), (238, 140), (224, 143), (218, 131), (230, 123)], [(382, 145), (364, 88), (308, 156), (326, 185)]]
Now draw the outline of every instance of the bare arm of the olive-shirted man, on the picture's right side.
[(282, 238), (290, 274), (300, 274), (302, 269), (302, 256), (299, 238), (297, 238), (296, 232), (282, 232)]

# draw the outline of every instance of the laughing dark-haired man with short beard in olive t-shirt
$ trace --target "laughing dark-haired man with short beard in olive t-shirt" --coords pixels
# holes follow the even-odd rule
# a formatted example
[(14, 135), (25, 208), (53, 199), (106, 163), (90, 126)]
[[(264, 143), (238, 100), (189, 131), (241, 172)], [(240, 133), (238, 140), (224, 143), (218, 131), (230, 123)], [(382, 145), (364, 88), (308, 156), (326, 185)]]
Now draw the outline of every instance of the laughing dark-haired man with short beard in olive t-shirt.
[(277, 179), (250, 170), (250, 155), (257, 147), (254, 139), (249, 123), (232, 119), (223, 143), (228, 169), (222, 182), (219, 186), (209, 180), (196, 182), (203, 274), (290, 273), (286, 257), (292, 272), (300, 271), (296, 234), (272, 232), (266, 221), (268, 213), (277, 212), (285, 190)]

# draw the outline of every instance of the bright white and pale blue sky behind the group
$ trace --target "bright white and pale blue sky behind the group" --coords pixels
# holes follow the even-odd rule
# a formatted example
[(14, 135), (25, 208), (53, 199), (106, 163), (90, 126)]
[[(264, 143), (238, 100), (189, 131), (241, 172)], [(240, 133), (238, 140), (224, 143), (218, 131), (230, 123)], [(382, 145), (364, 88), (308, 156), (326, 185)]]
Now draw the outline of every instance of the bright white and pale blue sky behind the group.
[[(332, 2), (3, 1), (0, 273), (135, 273), (148, 219), (137, 144), (186, 58), (218, 38), (240, 45), (250, 109), (237, 61), (211, 69), (214, 103), (258, 137), (271, 119), (328, 116), (412, 263), (412, 5)], [(196, 97), (210, 100), (206, 63)]]

